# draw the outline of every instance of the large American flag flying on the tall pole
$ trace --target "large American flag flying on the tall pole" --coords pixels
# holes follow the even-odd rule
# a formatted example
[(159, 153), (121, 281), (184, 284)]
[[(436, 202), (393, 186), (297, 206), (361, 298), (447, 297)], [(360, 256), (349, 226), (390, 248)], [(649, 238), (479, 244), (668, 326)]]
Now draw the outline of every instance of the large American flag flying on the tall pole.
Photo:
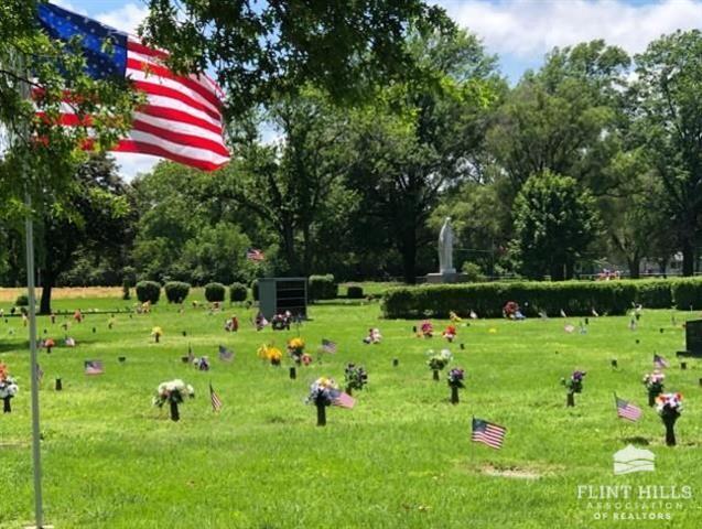
[[(206, 75), (179, 76), (164, 66), (168, 53), (150, 48), (125, 32), (51, 3), (39, 4), (39, 21), (53, 39), (82, 39), (86, 73), (96, 79), (127, 77), (145, 95), (133, 112), (132, 129), (111, 150), (165, 158), (214, 171), (229, 161), (223, 140), (224, 94)], [(111, 50), (105, 47), (110, 42)], [(61, 123), (86, 125), (69, 105)]]

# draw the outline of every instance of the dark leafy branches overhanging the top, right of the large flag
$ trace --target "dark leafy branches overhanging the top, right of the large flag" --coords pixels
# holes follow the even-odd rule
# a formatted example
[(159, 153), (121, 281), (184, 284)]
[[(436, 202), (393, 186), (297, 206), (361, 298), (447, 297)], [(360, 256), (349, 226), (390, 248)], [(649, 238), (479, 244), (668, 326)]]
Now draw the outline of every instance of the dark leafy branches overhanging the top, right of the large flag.
[(442, 8), (421, 0), (149, 0), (142, 34), (170, 50), (177, 69), (213, 64), (228, 111), (298, 94), (306, 84), (335, 100), (357, 99), (377, 84), (415, 71), (404, 47), (409, 28), (452, 31)]

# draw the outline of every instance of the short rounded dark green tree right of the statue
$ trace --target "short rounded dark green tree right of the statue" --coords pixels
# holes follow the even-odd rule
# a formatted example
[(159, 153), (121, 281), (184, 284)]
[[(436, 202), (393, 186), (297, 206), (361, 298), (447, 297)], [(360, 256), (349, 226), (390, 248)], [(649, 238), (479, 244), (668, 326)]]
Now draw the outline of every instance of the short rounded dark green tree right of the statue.
[(600, 229), (595, 201), (570, 176), (550, 171), (527, 180), (515, 199), (512, 248), (532, 279), (573, 277), (575, 264)]

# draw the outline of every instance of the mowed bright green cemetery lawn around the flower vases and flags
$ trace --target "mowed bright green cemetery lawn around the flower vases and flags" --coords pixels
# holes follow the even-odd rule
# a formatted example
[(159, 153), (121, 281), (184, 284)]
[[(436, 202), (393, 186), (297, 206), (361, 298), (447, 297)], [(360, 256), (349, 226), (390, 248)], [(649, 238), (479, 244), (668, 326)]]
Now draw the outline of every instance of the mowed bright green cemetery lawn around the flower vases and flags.
[[(56, 307), (78, 303), (84, 310), (130, 306), (62, 300)], [(237, 334), (223, 330), (233, 313), (242, 322)], [(563, 319), (465, 322), (469, 326), (458, 326), (450, 347), (454, 365), (467, 373), (458, 406), (449, 402), (444, 375), (432, 381), (425, 365), (426, 350), (445, 341), (414, 337), (418, 322), (380, 320), (378, 304), (312, 306), (312, 321), (300, 330), (309, 350), (316, 352), (323, 337), (339, 350), (301, 368), (296, 380), (289, 378), (289, 363), (274, 368), (256, 356), (261, 343), (272, 339), (282, 348), (296, 331), (257, 333), (247, 323), (251, 314), (226, 306), (210, 315), (190, 303), (179, 313), (160, 303), (149, 315), (118, 315), (109, 331), (108, 316), (88, 313), (68, 332), (75, 349), (41, 353), (47, 522), (110, 529), (702, 526), (702, 364), (690, 359), (683, 371), (674, 358), (683, 348), (680, 323), (698, 314), (678, 313), (673, 326), (669, 311), (645, 311), (634, 332), (628, 317), (591, 317), (585, 335), (566, 334)], [(62, 321), (40, 319), (40, 334), (46, 328), (63, 338)], [(569, 321), (577, 326), (579, 319)], [(446, 322), (434, 324), (441, 331)], [(160, 344), (150, 337), (154, 325), (165, 333)], [(370, 326), (380, 327), (382, 344), (361, 343)], [(24, 332), (19, 319), (0, 321), (0, 358), (21, 382), (13, 412), (0, 417), (2, 528), (32, 520)], [(209, 373), (181, 361), (188, 344), (210, 357)], [(217, 359), (218, 344), (236, 352), (231, 364)], [(685, 397), (674, 449), (665, 446), (663, 427), (646, 407), (640, 382), (654, 352), (671, 361), (667, 387)], [(85, 359), (104, 360), (105, 375), (86, 377)], [(303, 403), (309, 385), (322, 375), (342, 380), (347, 361), (366, 366), (367, 389), (355, 395), (354, 410), (330, 408), (328, 425), (317, 428), (314, 408)], [(584, 392), (566, 409), (560, 379), (575, 368), (587, 371)], [(62, 392), (54, 390), (56, 377)], [(179, 423), (151, 406), (156, 386), (173, 378), (197, 392), (181, 407)], [(218, 414), (209, 403), (210, 381), (225, 403)], [(614, 391), (645, 408), (638, 423), (616, 418)], [(507, 427), (503, 450), (471, 442), (472, 415)], [(655, 473), (613, 474), (612, 456), (629, 441), (648, 443)], [(687, 485), (693, 498), (668, 509), (669, 521), (613, 522), (594, 520), (593, 508), (576, 495), (579, 485), (625, 484)]]

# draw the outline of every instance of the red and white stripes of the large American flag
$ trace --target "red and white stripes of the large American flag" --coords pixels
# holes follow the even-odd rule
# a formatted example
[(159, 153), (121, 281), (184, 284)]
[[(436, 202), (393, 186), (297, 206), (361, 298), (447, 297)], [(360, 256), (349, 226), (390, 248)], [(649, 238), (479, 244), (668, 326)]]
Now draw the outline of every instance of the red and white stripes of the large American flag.
[(214, 171), (229, 161), (223, 140), (224, 94), (204, 74), (175, 75), (163, 65), (166, 56), (129, 36), (126, 75), (147, 102), (134, 111), (132, 130), (114, 150)]

